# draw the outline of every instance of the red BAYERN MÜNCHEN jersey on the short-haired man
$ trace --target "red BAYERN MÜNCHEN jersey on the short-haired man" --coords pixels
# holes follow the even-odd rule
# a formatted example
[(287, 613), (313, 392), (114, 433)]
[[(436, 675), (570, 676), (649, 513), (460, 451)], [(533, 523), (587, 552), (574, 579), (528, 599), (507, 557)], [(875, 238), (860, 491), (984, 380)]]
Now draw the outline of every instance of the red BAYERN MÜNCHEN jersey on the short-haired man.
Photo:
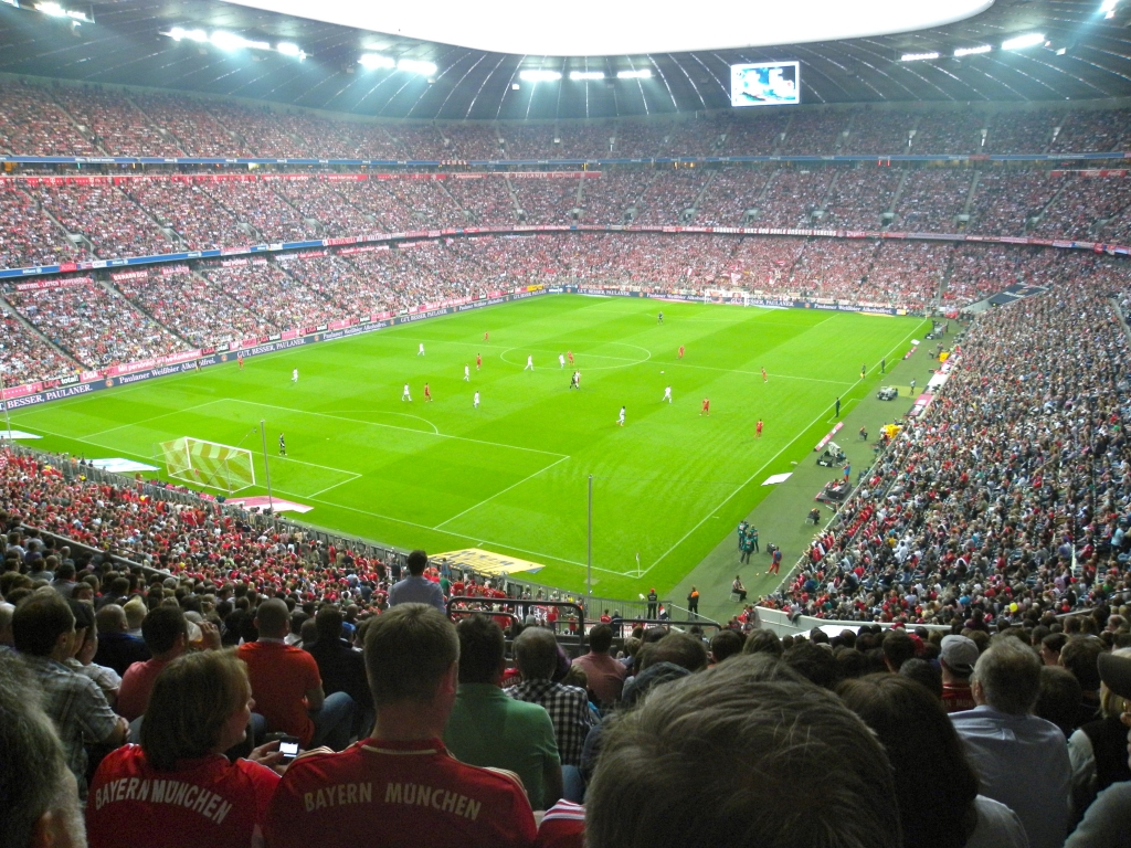
[(521, 780), (456, 760), (440, 739), (364, 739), (295, 760), (266, 823), (270, 848), (526, 848), (537, 831)]

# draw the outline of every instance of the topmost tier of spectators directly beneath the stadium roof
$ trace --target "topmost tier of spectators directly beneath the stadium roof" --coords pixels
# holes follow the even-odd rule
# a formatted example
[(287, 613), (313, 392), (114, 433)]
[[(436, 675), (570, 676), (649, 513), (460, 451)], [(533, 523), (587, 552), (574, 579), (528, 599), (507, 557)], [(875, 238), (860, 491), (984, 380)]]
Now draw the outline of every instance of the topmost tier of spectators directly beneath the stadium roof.
[(1125, 148), (1131, 144), (1126, 126), (1121, 110), (1050, 109), (805, 110), (701, 115), (680, 121), (655, 118), (544, 124), (391, 124), (183, 95), (114, 92), (92, 85), (42, 89), (20, 83), (0, 92), (0, 149), (43, 156), (456, 162), (834, 153), (1088, 153)]

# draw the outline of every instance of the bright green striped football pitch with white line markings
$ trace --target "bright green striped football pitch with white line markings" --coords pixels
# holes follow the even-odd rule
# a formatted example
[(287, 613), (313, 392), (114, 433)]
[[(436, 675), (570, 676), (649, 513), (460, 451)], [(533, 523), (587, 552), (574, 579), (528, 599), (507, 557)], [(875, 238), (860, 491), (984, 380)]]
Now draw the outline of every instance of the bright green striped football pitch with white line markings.
[[(259, 484), (262, 418), (274, 493), (313, 507), (302, 520), (430, 553), (481, 547), (523, 557), (545, 566), (534, 579), (578, 591), (593, 475), (594, 594), (636, 597), (653, 586), (667, 590), (699, 563), (770, 491), (761, 485), (767, 477), (811, 456), (834, 422), (836, 398), (847, 408), (874, 390), (881, 357), (901, 357), (923, 325), (543, 296), (11, 417), (14, 427), (44, 436), (36, 447), (87, 458), (162, 465), (155, 445), (179, 436), (251, 449)], [(569, 364), (559, 367), (567, 351), (581, 372), (579, 391), (569, 388)], [(402, 400), (405, 382), (412, 403)], [(674, 400), (662, 403), (668, 386)], [(709, 416), (700, 414), (705, 397)], [(765, 430), (756, 439), (759, 418)], [(280, 432), (286, 457), (277, 456)], [(257, 485), (241, 494), (265, 492)]]

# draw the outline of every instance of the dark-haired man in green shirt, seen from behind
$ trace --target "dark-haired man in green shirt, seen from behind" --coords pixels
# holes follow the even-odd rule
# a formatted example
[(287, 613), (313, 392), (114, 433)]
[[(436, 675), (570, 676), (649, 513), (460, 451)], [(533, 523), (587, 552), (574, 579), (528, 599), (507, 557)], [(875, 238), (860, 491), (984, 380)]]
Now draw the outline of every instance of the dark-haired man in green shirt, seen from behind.
[(526, 788), (530, 806), (549, 810), (562, 795), (562, 768), (554, 726), (545, 709), (508, 698), (500, 689), (506, 640), (486, 615), (456, 625), (459, 689), (443, 742), (460, 762), (506, 769)]

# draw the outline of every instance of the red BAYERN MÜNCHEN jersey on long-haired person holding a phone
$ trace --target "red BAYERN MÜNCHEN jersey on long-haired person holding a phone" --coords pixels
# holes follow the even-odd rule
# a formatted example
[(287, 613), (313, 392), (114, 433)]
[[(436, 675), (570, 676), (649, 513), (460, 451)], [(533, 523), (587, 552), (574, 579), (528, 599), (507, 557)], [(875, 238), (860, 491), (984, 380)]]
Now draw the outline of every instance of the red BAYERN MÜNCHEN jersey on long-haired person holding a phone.
[(222, 754), (157, 771), (139, 745), (112, 751), (87, 797), (90, 848), (249, 848), (262, 845), (260, 823), (279, 776)]

